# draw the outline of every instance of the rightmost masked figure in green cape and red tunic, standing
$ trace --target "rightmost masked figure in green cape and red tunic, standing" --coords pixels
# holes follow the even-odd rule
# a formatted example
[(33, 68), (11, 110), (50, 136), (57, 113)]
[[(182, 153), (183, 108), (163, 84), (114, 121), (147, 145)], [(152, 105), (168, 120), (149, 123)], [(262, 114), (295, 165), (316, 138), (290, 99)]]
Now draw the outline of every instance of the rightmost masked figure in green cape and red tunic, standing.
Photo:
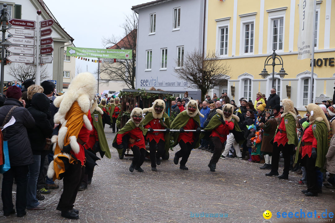
[(311, 103), (307, 105), (307, 112), (311, 114), (310, 122), (302, 133), (294, 162), (297, 163), (298, 157), (302, 157), (300, 165), (306, 168), (307, 190), (302, 192), (306, 196), (318, 196), (321, 188), (317, 184), (317, 170), (324, 172), (330, 126), (320, 106)]

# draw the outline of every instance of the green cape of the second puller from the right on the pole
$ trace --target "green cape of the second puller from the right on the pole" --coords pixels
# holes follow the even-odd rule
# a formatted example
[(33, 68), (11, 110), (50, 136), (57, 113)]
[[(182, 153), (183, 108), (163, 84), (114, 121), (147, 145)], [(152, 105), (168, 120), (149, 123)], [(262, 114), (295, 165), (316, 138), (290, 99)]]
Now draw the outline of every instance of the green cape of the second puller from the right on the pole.
[[(198, 125), (200, 127), (199, 114), (194, 116), (193, 119), (194, 119), (196, 125)], [(180, 129), (180, 128), (184, 127), (189, 120), (190, 120), (190, 116), (188, 116), (186, 110), (184, 110), (181, 113), (179, 113), (177, 115), (177, 117), (173, 120), (173, 122), (171, 124), (171, 129)], [(173, 141), (172, 146), (176, 146), (178, 144), (178, 137), (179, 137), (179, 132), (171, 132), (170, 139), (172, 139), (172, 141)], [(199, 142), (200, 142), (200, 137), (198, 137), (198, 140), (197, 140), (194, 148), (199, 147)]]

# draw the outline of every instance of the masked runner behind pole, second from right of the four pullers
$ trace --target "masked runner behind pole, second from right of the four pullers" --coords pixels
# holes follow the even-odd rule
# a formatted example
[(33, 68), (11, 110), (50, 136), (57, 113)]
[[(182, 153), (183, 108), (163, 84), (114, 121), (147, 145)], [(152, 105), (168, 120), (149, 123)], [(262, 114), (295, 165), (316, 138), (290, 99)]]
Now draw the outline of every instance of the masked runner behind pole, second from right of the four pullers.
[[(172, 132), (170, 137), (173, 140), (173, 146), (178, 143), (180, 150), (175, 153), (174, 163), (177, 165), (180, 160), (180, 169), (188, 170), (185, 166), (191, 150), (199, 147), (200, 141), (200, 117), (204, 117), (198, 109), (198, 103), (195, 100), (190, 100), (186, 105), (186, 110), (177, 115), (171, 124), (172, 129), (179, 129), (179, 132)], [(196, 130), (196, 132), (185, 132), (185, 130)]]

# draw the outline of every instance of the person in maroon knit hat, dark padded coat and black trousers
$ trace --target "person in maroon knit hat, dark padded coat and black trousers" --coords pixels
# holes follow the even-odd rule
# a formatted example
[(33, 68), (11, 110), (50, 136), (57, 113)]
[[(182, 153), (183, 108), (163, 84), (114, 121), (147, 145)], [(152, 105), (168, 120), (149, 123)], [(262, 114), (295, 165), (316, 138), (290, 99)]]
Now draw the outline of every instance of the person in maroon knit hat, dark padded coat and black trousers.
[[(15, 123), (3, 131), (4, 140), (8, 143), (10, 169), (3, 174), (1, 198), (4, 216), (14, 214), (12, 201), (12, 188), (14, 177), (16, 180), (16, 212), (17, 217), (23, 217), (26, 212), (27, 174), (28, 165), (34, 163), (32, 151), (28, 139), (27, 129), (35, 126), (35, 120), (21, 100), (21, 89), (15, 86), (8, 87), (7, 99), (0, 108), (0, 124), (6, 124), (12, 116)], [(13, 108), (16, 106), (15, 108)], [(12, 109), (13, 108), (13, 109)], [(5, 120), (7, 114), (10, 115)]]

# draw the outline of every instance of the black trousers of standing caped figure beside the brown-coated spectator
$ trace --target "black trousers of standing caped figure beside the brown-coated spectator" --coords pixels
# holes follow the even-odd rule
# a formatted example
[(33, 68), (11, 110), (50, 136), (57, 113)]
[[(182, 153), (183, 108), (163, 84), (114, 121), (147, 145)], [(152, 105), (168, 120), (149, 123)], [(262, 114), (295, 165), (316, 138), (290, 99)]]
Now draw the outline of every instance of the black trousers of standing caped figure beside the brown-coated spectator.
[(275, 142), (273, 143), (273, 150), (272, 150), (272, 160), (271, 160), (271, 172), (275, 173), (278, 172), (278, 166), (279, 166), (279, 155), (280, 155), (280, 151), (283, 153), (283, 157), (284, 157), (284, 170), (283, 173), (284, 174), (289, 174), (289, 170), (290, 170), (290, 153), (293, 149), (292, 144), (285, 144), (285, 146), (283, 146), (282, 144), (280, 144), (278, 146), (278, 143)]

